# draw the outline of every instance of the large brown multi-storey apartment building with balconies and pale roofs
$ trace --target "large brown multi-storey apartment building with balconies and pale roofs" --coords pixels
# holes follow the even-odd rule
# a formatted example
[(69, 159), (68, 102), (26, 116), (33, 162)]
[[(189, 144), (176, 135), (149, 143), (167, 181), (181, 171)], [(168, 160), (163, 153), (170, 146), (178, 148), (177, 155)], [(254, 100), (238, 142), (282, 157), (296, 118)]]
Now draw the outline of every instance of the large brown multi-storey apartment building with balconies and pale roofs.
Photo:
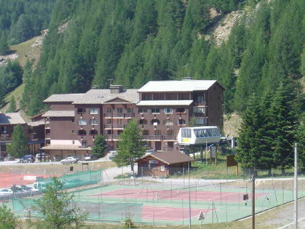
[(140, 89), (92, 88), (86, 93), (53, 94), (44, 102), (46, 146), (51, 160), (82, 157), (94, 137), (104, 135), (109, 147), (131, 119), (143, 131), (147, 148), (173, 149), (181, 127), (223, 126), (223, 90), (215, 80), (150, 81)]

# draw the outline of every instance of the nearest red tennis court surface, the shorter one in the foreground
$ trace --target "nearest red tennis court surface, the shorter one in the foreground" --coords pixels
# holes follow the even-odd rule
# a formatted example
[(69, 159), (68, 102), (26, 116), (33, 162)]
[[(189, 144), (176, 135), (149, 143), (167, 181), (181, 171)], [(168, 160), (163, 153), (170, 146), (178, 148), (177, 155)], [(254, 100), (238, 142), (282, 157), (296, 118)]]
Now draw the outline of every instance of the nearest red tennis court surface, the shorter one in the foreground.
[[(190, 217), (199, 216), (200, 212), (206, 214), (212, 212), (212, 209), (192, 208), (190, 210)], [(180, 207), (153, 207), (142, 206), (142, 219), (155, 219), (155, 220), (169, 220), (181, 221), (189, 218), (188, 208)]]

